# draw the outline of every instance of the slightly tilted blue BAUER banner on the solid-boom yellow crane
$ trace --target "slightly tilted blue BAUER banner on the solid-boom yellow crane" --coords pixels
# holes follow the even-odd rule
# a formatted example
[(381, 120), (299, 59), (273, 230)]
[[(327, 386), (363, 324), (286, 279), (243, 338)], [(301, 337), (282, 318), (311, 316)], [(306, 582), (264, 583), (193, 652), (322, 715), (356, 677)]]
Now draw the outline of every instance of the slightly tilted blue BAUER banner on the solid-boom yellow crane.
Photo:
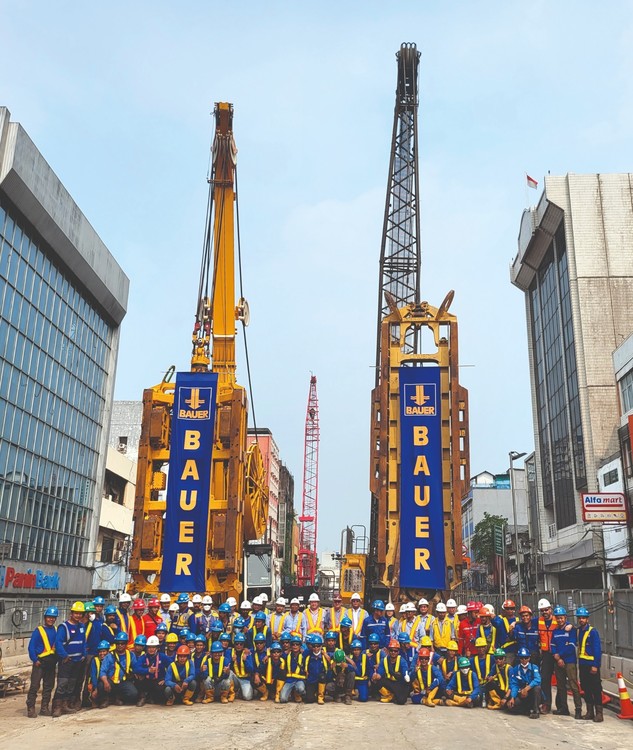
[(205, 591), (218, 376), (179, 372), (171, 420), (160, 590)]

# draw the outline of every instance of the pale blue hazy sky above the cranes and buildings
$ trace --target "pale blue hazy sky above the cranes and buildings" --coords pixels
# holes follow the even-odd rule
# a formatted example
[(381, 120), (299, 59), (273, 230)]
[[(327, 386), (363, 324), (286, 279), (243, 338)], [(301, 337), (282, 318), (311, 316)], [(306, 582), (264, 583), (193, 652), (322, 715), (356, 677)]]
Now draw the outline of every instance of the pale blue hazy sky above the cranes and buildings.
[(120, 399), (188, 367), (210, 112), (235, 105), (257, 423), (298, 506), (317, 375), (320, 549), (369, 520), (395, 52), (415, 42), (422, 297), (455, 290), (472, 473), (532, 449), (524, 301), (508, 272), (524, 175), (631, 170), (633, 3), (0, 0), (0, 29), (0, 104), (131, 280)]

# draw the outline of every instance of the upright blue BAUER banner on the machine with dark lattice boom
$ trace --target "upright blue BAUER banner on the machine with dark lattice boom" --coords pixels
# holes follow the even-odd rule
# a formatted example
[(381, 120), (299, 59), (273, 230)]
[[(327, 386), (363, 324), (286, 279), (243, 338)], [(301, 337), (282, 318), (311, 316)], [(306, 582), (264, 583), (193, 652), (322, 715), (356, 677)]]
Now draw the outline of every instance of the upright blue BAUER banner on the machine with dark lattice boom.
[(439, 367), (400, 367), (400, 585), (446, 588)]

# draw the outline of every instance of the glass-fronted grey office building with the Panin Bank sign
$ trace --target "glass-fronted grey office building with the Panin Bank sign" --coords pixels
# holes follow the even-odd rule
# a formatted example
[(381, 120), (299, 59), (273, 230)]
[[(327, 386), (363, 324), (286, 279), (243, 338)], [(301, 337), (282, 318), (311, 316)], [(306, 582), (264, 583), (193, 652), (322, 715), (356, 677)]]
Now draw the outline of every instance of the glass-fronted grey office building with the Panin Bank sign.
[(0, 596), (92, 592), (128, 285), (0, 108)]

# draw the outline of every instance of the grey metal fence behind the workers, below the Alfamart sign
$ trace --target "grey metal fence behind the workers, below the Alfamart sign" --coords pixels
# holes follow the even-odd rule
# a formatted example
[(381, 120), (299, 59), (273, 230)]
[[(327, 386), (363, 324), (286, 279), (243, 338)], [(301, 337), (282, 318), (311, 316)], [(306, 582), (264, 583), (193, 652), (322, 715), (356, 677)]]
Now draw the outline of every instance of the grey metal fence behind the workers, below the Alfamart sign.
[[(458, 601), (464, 598), (477, 598), (485, 604), (492, 604), (495, 612), (501, 611), (503, 596), (501, 594), (477, 594), (466, 592), (453, 593)], [(516, 594), (509, 594), (517, 607)], [(573, 614), (576, 607), (587, 607), (591, 614), (591, 624), (598, 629), (602, 638), (602, 649), (605, 653), (633, 659), (633, 590), (616, 589), (601, 591), (596, 589), (568, 589), (562, 591), (528, 592), (523, 594), (523, 604), (537, 612), (539, 599), (549, 599), (552, 606), (560, 604)]]

